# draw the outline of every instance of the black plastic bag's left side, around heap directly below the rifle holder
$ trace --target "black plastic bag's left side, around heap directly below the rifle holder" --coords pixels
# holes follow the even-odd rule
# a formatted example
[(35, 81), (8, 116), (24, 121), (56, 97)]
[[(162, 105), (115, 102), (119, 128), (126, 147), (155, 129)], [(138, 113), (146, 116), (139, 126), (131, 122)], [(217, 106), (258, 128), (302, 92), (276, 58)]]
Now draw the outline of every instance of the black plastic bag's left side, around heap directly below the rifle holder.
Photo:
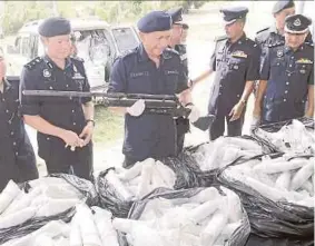
[(101, 171), (97, 177), (97, 191), (99, 195), (99, 207), (109, 209), (115, 217), (127, 218), (132, 201), (125, 200), (119, 193), (106, 179), (109, 170), (114, 167)]

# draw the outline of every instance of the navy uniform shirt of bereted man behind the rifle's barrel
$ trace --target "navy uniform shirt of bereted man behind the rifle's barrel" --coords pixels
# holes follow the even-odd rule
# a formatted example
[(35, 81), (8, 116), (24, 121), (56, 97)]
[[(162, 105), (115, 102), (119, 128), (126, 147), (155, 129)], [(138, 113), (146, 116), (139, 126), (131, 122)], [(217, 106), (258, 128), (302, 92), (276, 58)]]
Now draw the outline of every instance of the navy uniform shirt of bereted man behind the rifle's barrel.
[[(69, 58), (65, 70), (48, 57), (36, 58), (24, 66), (20, 90), (90, 91), (83, 61)], [(62, 129), (81, 134), (86, 126), (82, 104), (91, 98), (21, 97), (23, 115), (39, 115)], [(51, 149), (65, 148), (62, 139), (38, 132), (39, 156), (49, 158)]]

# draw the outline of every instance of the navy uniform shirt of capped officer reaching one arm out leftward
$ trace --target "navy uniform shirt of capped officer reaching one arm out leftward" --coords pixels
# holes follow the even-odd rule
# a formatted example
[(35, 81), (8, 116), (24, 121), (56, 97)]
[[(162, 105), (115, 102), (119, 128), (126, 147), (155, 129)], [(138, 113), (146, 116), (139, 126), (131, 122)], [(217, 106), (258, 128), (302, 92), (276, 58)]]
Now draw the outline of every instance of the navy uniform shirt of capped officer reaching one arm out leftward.
[(260, 49), (244, 35), (235, 43), (218, 38), (210, 59), (216, 71), (208, 110), (211, 115), (227, 116), (239, 101), (246, 81), (259, 79)]

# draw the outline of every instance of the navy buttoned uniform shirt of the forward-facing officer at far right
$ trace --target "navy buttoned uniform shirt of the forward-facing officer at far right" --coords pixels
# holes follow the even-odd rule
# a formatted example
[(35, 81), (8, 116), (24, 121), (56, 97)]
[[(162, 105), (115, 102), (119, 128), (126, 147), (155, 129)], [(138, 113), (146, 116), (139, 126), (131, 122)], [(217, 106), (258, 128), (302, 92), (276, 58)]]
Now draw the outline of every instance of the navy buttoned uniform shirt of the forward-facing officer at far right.
[(314, 47), (302, 45), (270, 47), (263, 59), (262, 80), (267, 80), (263, 119), (282, 121), (302, 117), (308, 85), (314, 85)]

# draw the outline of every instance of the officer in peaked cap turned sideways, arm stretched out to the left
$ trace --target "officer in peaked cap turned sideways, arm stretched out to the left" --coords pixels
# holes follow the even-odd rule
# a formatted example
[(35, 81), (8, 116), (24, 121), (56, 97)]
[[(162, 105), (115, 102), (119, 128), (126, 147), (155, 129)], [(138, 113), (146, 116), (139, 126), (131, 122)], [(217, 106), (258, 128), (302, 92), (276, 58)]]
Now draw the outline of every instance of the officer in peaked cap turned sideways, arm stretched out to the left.
[(216, 39), (210, 68), (193, 80), (196, 85), (216, 71), (208, 106), (209, 114), (216, 116), (209, 129), (210, 140), (224, 134), (225, 120), (228, 136), (242, 135), (246, 102), (253, 81), (259, 78), (259, 47), (244, 32), (248, 9), (233, 7), (220, 12), (226, 36)]

